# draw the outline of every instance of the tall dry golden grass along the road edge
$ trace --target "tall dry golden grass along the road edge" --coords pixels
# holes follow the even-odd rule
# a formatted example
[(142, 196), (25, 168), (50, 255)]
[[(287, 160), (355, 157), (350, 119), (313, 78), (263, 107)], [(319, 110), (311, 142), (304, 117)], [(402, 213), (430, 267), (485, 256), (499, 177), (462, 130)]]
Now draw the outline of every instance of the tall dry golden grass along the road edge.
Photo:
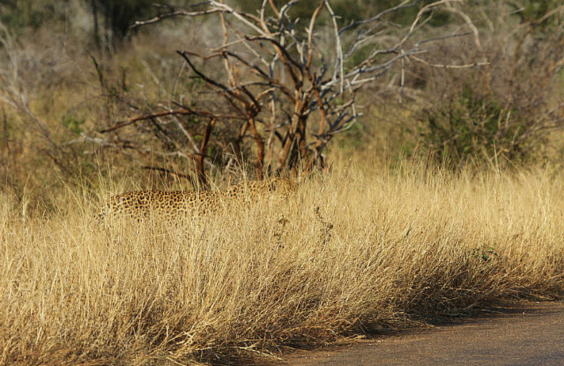
[(336, 168), (178, 227), (99, 227), (76, 191), (27, 217), (4, 194), (0, 364), (219, 362), (560, 296), (562, 178)]

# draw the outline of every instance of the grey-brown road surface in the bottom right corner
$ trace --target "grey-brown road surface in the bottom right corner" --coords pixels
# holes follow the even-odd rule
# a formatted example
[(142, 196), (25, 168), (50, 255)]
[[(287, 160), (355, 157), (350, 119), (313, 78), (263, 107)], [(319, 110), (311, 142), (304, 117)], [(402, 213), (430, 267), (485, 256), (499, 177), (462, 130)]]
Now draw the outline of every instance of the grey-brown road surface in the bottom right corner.
[(296, 351), (270, 365), (564, 365), (564, 303), (529, 303), (458, 323)]

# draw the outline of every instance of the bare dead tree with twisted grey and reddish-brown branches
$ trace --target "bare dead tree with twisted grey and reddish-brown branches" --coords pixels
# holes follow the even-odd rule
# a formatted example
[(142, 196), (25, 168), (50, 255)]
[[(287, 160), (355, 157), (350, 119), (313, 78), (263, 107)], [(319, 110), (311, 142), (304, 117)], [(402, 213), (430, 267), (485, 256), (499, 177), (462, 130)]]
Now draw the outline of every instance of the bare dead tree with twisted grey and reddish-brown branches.
[[(255, 175), (279, 175), (283, 170), (326, 166), (324, 149), (331, 139), (348, 130), (360, 113), (355, 95), (364, 85), (391, 70), (402, 72), (406, 61), (425, 63), (424, 53), (433, 42), (453, 37), (475, 37), (477, 28), (457, 8), (458, 0), (441, 0), (422, 5), (419, 0), (403, 1), (364, 20), (339, 25), (330, 1), (321, 0), (310, 18), (290, 16), (297, 0), (278, 7), (264, 0), (256, 14), (238, 11), (223, 1), (204, 1), (197, 8), (165, 8), (161, 15), (138, 21), (134, 27), (147, 26), (166, 18), (217, 17), (222, 40), (206, 53), (178, 51), (192, 77), (203, 82), (223, 99), (220, 107), (191, 108), (178, 101), (161, 103), (164, 111), (147, 111), (102, 132), (115, 131), (140, 120), (197, 116), (208, 122), (196, 144), (194, 134), (183, 122), (176, 126), (190, 143), (187, 154), (195, 162), (196, 176), (205, 184), (204, 159), (208, 144), (231, 152), (240, 165), (248, 158), (242, 144), (246, 137), (254, 143)], [(388, 16), (407, 8), (418, 8), (407, 27), (393, 25)], [(436, 11), (458, 15), (456, 30), (449, 27), (434, 35), (422, 32)], [(422, 35), (427, 38), (423, 38)], [(432, 65), (456, 68), (484, 65)], [(204, 67), (207, 65), (208, 67)], [(209, 68), (214, 65), (214, 68)], [(223, 72), (218, 73), (217, 70)], [(403, 75), (401, 78), (403, 85)], [(164, 107), (168, 105), (169, 107)], [(160, 122), (159, 122), (160, 121)], [(221, 121), (231, 125), (228, 143), (211, 139)]]

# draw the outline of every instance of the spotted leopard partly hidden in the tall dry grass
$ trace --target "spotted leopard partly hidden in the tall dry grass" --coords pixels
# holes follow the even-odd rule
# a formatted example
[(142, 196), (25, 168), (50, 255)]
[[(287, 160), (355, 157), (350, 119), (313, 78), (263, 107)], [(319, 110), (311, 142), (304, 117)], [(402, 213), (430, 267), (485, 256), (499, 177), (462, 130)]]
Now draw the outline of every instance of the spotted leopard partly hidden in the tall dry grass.
[(148, 217), (164, 217), (173, 222), (181, 217), (217, 213), (229, 206), (238, 209), (249, 206), (262, 196), (276, 196), (287, 200), (298, 189), (298, 183), (288, 178), (244, 181), (225, 190), (128, 191), (112, 196), (104, 204), (98, 220), (109, 217), (128, 217), (141, 222)]

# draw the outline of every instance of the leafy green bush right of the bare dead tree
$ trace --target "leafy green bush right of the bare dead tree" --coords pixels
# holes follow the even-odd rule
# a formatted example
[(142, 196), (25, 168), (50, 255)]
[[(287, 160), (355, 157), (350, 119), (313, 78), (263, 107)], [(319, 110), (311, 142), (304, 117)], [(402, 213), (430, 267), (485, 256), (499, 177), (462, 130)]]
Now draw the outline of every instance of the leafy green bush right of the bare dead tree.
[(464, 87), (448, 103), (423, 113), (419, 137), (436, 163), (458, 167), (475, 162), (524, 162), (535, 151), (522, 149), (529, 133), (517, 108), (495, 94), (479, 94)]

